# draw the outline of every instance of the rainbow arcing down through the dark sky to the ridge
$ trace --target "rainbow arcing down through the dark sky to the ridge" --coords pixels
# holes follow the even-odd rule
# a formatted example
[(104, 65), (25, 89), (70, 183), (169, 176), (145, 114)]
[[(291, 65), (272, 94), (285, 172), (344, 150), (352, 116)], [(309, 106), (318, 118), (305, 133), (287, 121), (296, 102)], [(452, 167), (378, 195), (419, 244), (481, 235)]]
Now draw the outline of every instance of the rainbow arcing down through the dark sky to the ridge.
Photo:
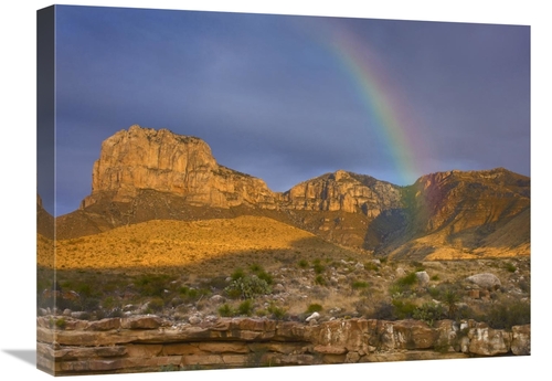
[[(332, 25), (330, 25), (332, 27)], [(412, 184), (423, 172), (424, 145), (416, 131), (417, 116), (401, 98), (376, 50), (340, 25), (323, 33), (326, 50), (355, 86), (370, 116), (370, 126), (389, 148), (401, 184)]]

